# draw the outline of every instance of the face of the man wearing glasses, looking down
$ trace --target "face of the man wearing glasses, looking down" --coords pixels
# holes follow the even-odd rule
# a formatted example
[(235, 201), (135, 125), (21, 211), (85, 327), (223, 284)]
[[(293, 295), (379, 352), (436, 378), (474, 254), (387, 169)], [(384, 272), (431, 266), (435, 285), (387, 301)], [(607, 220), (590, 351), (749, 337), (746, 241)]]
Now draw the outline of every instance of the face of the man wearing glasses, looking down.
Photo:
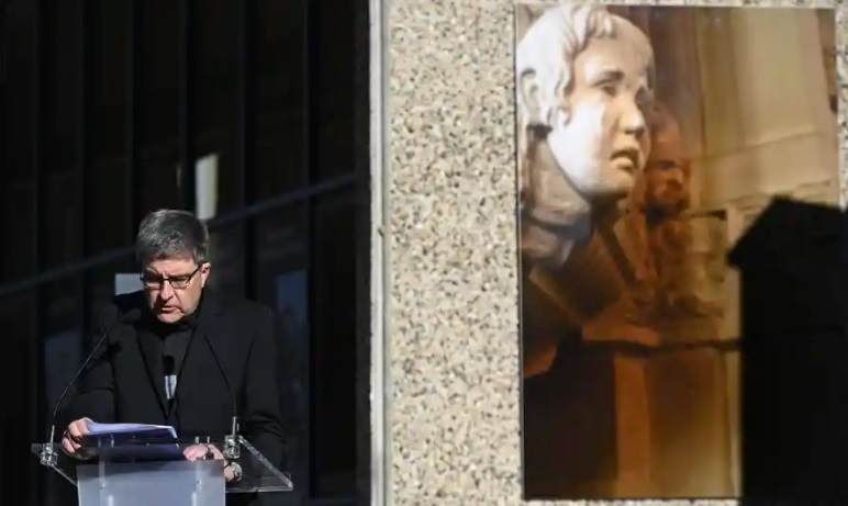
[(192, 314), (209, 279), (210, 263), (185, 258), (154, 260), (142, 271), (147, 303), (159, 322), (172, 324)]

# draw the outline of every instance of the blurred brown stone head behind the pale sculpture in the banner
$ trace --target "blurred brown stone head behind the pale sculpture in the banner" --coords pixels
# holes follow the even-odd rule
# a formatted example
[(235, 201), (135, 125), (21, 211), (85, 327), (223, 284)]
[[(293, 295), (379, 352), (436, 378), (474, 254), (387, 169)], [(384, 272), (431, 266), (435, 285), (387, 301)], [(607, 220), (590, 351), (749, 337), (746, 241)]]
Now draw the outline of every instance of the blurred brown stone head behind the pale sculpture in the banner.
[(689, 159), (677, 125), (655, 132), (652, 148), (645, 167), (645, 203), (650, 209), (678, 212), (689, 201)]

